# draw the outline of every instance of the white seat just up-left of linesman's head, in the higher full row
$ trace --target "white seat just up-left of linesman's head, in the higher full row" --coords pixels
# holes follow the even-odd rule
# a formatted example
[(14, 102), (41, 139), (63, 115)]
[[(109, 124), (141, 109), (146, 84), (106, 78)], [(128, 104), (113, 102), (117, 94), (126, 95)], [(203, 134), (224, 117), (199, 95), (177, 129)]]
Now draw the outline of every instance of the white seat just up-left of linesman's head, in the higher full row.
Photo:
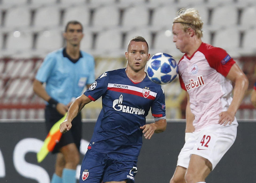
[(34, 16), (35, 28), (55, 28), (60, 25), (60, 9), (57, 6), (40, 7)]

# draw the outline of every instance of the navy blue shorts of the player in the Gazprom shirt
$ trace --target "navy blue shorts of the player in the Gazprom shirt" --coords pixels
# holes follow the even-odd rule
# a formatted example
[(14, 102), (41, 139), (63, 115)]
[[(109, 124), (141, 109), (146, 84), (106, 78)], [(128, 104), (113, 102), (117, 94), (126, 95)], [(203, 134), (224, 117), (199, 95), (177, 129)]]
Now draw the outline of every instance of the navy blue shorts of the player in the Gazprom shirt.
[(79, 183), (109, 181), (134, 182), (137, 160), (117, 154), (104, 154), (88, 149), (80, 170)]

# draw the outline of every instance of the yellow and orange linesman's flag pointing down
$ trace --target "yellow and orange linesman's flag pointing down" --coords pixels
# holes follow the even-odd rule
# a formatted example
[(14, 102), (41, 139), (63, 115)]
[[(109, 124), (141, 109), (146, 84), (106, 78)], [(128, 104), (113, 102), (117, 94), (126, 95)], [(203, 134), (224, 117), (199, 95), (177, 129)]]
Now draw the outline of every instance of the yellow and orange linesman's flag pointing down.
[(43, 146), (41, 147), (40, 151), (37, 153), (37, 162), (40, 163), (45, 159), (46, 155), (53, 151), (56, 143), (59, 142), (59, 139), (61, 139), (61, 131), (59, 131), (59, 125), (64, 121), (66, 118), (67, 113), (58, 120), (49, 131), (48, 135), (46, 136), (45, 141), (43, 142)]

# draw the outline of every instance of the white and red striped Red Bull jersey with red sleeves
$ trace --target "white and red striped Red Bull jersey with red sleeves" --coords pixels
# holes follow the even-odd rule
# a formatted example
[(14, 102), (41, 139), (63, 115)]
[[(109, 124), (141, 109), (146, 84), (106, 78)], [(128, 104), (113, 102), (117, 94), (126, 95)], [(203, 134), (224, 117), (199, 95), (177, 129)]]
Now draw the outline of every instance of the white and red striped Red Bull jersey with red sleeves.
[(219, 113), (228, 109), (233, 86), (226, 76), (234, 63), (224, 49), (206, 43), (190, 58), (185, 54), (179, 61), (179, 80), (189, 94), (195, 131), (217, 124)]

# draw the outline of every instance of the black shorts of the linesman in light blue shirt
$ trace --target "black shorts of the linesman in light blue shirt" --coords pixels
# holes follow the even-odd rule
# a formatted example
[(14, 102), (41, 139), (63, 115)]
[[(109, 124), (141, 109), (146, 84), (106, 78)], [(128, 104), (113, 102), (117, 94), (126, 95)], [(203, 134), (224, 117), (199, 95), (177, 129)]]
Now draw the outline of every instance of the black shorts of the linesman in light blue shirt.
[[(51, 127), (62, 118), (63, 116), (58, 113), (56, 108), (47, 105), (45, 107), (45, 124), (47, 134), (49, 133)], [(79, 113), (72, 121), (72, 127), (69, 131), (62, 134), (59, 143), (57, 143), (52, 151), (52, 153), (59, 152), (59, 149), (67, 144), (75, 143), (79, 151), (80, 141), (82, 138), (82, 117)]]

